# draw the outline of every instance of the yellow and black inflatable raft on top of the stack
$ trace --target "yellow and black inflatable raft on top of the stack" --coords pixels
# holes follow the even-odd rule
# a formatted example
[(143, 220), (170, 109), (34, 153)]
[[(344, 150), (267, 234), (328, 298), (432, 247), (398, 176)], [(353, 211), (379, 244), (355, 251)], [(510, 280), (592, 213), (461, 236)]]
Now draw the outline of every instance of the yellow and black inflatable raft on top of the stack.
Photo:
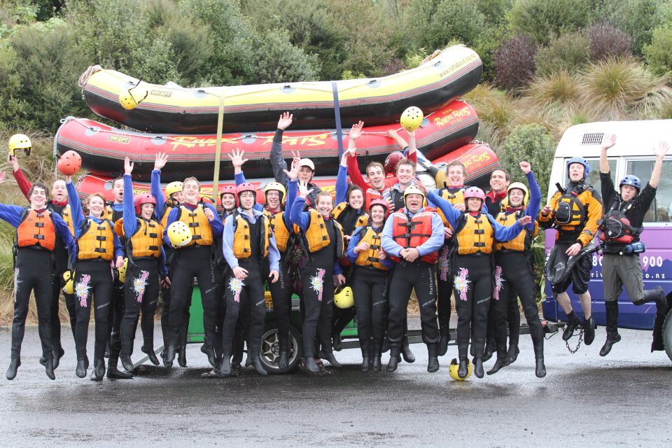
[[(479, 83), (483, 66), (476, 52), (454, 45), (415, 69), (334, 82), (183, 88), (94, 70), (83, 75), (80, 85), (86, 104), (99, 116), (147, 132), (215, 134), (221, 98), (223, 132), (274, 130), (284, 111), (294, 114), (294, 129), (335, 128), (336, 98), (343, 127), (359, 120), (384, 125), (398, 120), (408, 106), (430, 113), (469, 92)], [(119, 97), (130, 89), (139, 106), (127, 110)]]

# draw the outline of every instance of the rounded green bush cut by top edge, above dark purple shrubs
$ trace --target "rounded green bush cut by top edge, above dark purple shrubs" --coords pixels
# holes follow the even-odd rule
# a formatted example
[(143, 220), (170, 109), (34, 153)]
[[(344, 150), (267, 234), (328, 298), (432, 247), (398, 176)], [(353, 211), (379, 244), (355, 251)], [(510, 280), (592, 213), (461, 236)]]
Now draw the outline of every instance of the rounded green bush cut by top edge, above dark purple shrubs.
[(508, 13), (512, 31), (546, 45), (552, 36), (587, 25), (590, 3), (584, 0), (516, 0)]

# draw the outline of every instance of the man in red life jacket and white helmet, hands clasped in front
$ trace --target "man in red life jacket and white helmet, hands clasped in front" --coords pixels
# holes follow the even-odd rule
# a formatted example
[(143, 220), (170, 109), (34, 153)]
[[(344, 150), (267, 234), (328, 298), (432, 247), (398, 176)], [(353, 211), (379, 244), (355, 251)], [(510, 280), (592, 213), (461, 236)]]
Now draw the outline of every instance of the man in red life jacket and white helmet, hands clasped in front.
[(429, 354), (427, 371), (439, 370), (437, 356), (440, 335), (436, 319), (434, 265), (438, 250), (443, 244), (444, 232), (441, 218), (434, 209), (423, 207), (424, 201), (425, 195), (419, 188), (407, 186), (404, 189), (405, 207), (398, 207), (383, 228), (383, 250), (396, 263), (389, 294), (388, 372), (394, 372), (399, 363), (407, 317), (406, 307), (412, 290), (415, 290), (418, 297), (422, 339), (427, 344)]

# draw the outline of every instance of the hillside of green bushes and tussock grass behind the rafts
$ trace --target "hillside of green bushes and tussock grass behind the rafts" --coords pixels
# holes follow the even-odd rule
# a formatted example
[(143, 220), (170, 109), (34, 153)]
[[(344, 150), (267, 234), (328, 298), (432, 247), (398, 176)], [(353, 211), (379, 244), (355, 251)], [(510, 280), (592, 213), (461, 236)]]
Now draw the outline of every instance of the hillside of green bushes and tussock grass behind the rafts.
[[(464, 43), (478, 139), (540, 183), (567, 127), (672, 118), (672, 0), (0, 0), (0, 139), (23, 132), (29, 179), (55, 178), (52, 135), (92, 116), (77, 80), (101, 64), (183, 87), (385, 76)], [(4, 162), (0, 167), (10, 168)], [(545, 188), (542, 188), (545, 190)], [(0, 202), (24, 203), (8, 181)], [(0, 227), (0, 319), (12, 232)]]

